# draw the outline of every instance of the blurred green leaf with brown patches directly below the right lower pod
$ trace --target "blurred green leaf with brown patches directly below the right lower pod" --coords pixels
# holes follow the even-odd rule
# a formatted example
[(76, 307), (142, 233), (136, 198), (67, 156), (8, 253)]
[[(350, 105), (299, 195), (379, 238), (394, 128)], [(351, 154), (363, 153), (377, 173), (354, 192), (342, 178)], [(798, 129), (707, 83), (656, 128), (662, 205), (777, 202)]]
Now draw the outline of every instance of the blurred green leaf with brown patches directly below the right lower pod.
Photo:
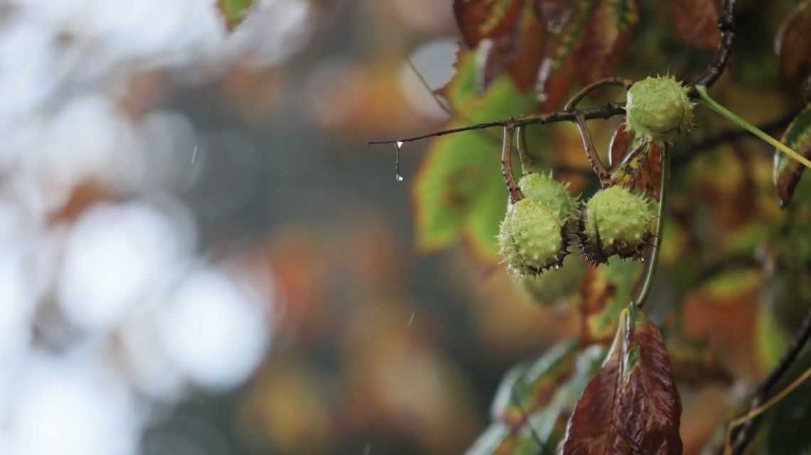
[(581, 337), (585, 345), (607, 344), (620, 314), (633, 298), (642, 277), (642, 263), (613, 256), (608, 264), (590, 268), (581, 287)]

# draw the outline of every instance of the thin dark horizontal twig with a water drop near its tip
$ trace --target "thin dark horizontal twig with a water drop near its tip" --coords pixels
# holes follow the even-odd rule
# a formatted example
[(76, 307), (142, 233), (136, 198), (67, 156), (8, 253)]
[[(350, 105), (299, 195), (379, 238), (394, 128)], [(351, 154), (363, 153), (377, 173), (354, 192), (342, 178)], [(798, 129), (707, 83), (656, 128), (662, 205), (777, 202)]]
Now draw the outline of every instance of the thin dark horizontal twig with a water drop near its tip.
[(550, 114), (537, 114), (537, 115), (521, 115), (516, 118), (505, 118), (503, 120), (496, 120), (495, 122), (478, 123), (476, 125), (469, 125), (466, 127), (451, 128), (449, 130), (435, 131), (427, 135), (418, 135), (410, 138), (397, 139), (397, 140), (373, 140), (367, 142), (367, 145), (374, 144), (395, 144), (397, 142), (414, 142), (415, 140), (423, 140), (431, 137), (450, 135), (462, 131), (484, 130), (493, 127), (525, 127), (527, 125), (547, 125), (556, 122), (574, 122), (577, 116), (581, 116), (586, 120), (594, 118), (611, 118), (615, 115), (625, 114), (624, 103), (606, 103), (603, 107), (575, 110), (573, 112), (552, 112)]

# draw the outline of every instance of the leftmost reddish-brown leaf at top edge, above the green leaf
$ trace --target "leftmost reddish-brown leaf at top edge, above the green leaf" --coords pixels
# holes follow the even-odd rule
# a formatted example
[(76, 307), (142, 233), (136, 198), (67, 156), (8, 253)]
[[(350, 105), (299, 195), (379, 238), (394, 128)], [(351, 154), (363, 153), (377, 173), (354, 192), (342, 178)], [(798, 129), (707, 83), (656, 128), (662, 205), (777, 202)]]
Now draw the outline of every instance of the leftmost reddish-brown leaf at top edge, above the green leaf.
[[(508, 71), (521, 91), (534, 87), (546, 45), (547, 20), (535, 0), (454, 0), (453, 12), (470, 48), (490, 40), (484, 84)], [(528, 7), (530, 6), (530, 7)], [(534, 6), (534, 7), (531, 7)]]

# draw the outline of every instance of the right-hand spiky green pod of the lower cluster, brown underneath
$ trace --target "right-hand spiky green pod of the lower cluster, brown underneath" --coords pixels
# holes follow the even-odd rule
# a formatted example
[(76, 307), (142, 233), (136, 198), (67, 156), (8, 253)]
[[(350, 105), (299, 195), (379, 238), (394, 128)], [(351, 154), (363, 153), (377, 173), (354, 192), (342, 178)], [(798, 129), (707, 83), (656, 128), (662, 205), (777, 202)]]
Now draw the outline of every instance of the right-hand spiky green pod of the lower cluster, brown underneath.
[(611, 255), (642, 257), (642, 248), (653, 238), (653, 220), (646, 196), (618, 186), (598, 191), (581, 211), (578, 236), (583, 253), (594, 263), (605, 263)]

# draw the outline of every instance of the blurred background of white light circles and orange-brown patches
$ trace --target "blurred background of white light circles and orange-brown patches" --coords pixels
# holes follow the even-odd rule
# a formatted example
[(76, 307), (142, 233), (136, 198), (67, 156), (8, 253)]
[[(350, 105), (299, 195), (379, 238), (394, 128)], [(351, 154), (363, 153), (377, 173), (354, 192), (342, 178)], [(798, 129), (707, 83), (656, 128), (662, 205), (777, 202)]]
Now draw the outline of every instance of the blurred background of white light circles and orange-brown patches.
[(504, 371), (573, 332), (462, 251), (418, 255), (424, 144), (402, 183), (364, 145), (447, 120), (450, 2), (0, 22), (0, 453), (459, 453)]

